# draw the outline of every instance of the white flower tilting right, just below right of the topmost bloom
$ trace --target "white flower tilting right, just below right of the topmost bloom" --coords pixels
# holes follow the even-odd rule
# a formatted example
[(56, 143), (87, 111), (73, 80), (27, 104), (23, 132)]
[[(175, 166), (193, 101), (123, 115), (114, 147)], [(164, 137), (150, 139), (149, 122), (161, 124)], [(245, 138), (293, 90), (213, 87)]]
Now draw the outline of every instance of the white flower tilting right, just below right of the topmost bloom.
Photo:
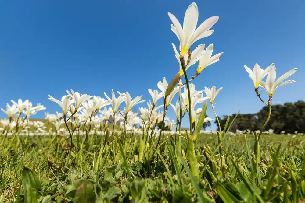
[(219, 61), (219, 57), (221, 57), (221, 55), (224, 53), (221, 52), (219, 54), (212, 56), (213, 48), (214, 48), (213, 44), (210, 44), (208, 47), (206, 47), (206, 50), (203, 52), (203, 56), (199, 59), (197, 74), (203, 71), (203, 69), (206, 68), (208, 65), (211, 65)]

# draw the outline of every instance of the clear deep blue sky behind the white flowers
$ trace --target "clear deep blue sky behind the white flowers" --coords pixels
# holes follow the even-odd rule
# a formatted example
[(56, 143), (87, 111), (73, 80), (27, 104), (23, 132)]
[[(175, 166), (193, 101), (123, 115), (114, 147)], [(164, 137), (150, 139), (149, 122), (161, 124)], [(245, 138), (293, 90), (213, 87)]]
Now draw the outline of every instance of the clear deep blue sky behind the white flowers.
[[(170, 30), (167, 12), (182, 24), (191, 3), (2, 1), (0, 107), (21, 98), (55, 113), (60, 107), (48, 101), (48, 94), (59, 99), (67, 89), (102, 97), (114, 89), (150, 99), (148, 89), (157, 89), (158, 81), (170, 81), (178, 71), (171, 43), (179, 46), (179, 41)], [(289, 78), (297, 83), (277, 89), (273, 103), (305, 100), (304, 1), (196, 3), (198, 25), (210, 16), (220, 17), (215, 32), (191, 47), (213, 43), (214, 54), (224, 52), (194, 80), (197, 90), (223, 87), (215, 100), (219, 116), (239, 110), (254, 113), (263, 106), (244, 64), (253, 68), (257, 62), (266, 68), (275, 62), (277, 77), (298, 68)], [(188, 75), (195, 68), (189, 68)], [(262, 95), (267, 100), (264, 90)], [(168, 115), (174, 118), (171, 107)], [(208, 115), (214, 117), (210, 105)], [(0, 117), (5, 117), (2, 111)], [(33, 117), (43, 118), (43, 113)], [(187, 127), (187, 118), (183, 125)]]

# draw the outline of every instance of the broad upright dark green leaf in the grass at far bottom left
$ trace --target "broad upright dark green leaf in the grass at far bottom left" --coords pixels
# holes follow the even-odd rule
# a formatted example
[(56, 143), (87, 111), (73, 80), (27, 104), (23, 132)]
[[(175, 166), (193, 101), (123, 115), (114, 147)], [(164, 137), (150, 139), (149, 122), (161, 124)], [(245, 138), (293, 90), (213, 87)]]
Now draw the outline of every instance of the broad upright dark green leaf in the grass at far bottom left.
[(35, 173), (33, 173), (30, 169), (26, 167), (23, 167), (22, 171), (22, 185), (25, 192), (24, 202), (37, 202), (37, 190), (41, 189), (41, 183)]

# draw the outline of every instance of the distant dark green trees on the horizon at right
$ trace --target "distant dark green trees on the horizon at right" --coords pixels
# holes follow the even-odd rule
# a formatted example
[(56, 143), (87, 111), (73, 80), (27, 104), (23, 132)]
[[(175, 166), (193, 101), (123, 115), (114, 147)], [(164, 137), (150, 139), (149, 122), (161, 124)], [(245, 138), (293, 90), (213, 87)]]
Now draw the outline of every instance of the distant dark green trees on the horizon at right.
[[(235, 115), (232, 114), (230, 123)], [(267, 106), (263, 107), (256, 114), (239, 114), (232, 124), (230, 131), (260, 130), (267, 120), (267, 117)], [(222, 118), (218, 118), (221, 128), (224, 128), (228, 116), (224, 115)], [(217, 124), (217, 120), (214, 123)], [(285, 103), (284, 105), (272, 105), (271, 117), (265, 130), (268, 129), (273, 129), (274, 133), (281, 133), (281, 131), (285, 131), (285, 133), (294, 133), (295, 131), (305, 133), (305, 102), (297, 101), (295, 103)]]

